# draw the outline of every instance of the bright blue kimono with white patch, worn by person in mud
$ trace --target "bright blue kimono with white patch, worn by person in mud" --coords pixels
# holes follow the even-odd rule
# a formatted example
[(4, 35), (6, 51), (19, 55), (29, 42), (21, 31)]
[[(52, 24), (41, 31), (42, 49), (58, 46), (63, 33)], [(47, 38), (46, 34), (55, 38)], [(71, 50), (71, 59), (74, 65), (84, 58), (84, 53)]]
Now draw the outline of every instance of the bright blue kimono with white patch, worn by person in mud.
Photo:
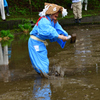
[[(34, 26), (30, 35), (34, 35), (41, 40), (49, 39), (51, 42), (58, 42), (59, 45), (64, 48), (65, 43), (61, 39), (58, 39), (58, 35), (63, 34), (68, 36), (68, 33), (63, 30), (61, 25), (57, 22), (51, 21), (47, 15), (40, 19), (40, 21)], [(28, 41), (29, 56), (33, 68), (38, 73), (49, 73), (49, 60), (47, 57), (47, 49), (43, 42), (29, 38)]]

